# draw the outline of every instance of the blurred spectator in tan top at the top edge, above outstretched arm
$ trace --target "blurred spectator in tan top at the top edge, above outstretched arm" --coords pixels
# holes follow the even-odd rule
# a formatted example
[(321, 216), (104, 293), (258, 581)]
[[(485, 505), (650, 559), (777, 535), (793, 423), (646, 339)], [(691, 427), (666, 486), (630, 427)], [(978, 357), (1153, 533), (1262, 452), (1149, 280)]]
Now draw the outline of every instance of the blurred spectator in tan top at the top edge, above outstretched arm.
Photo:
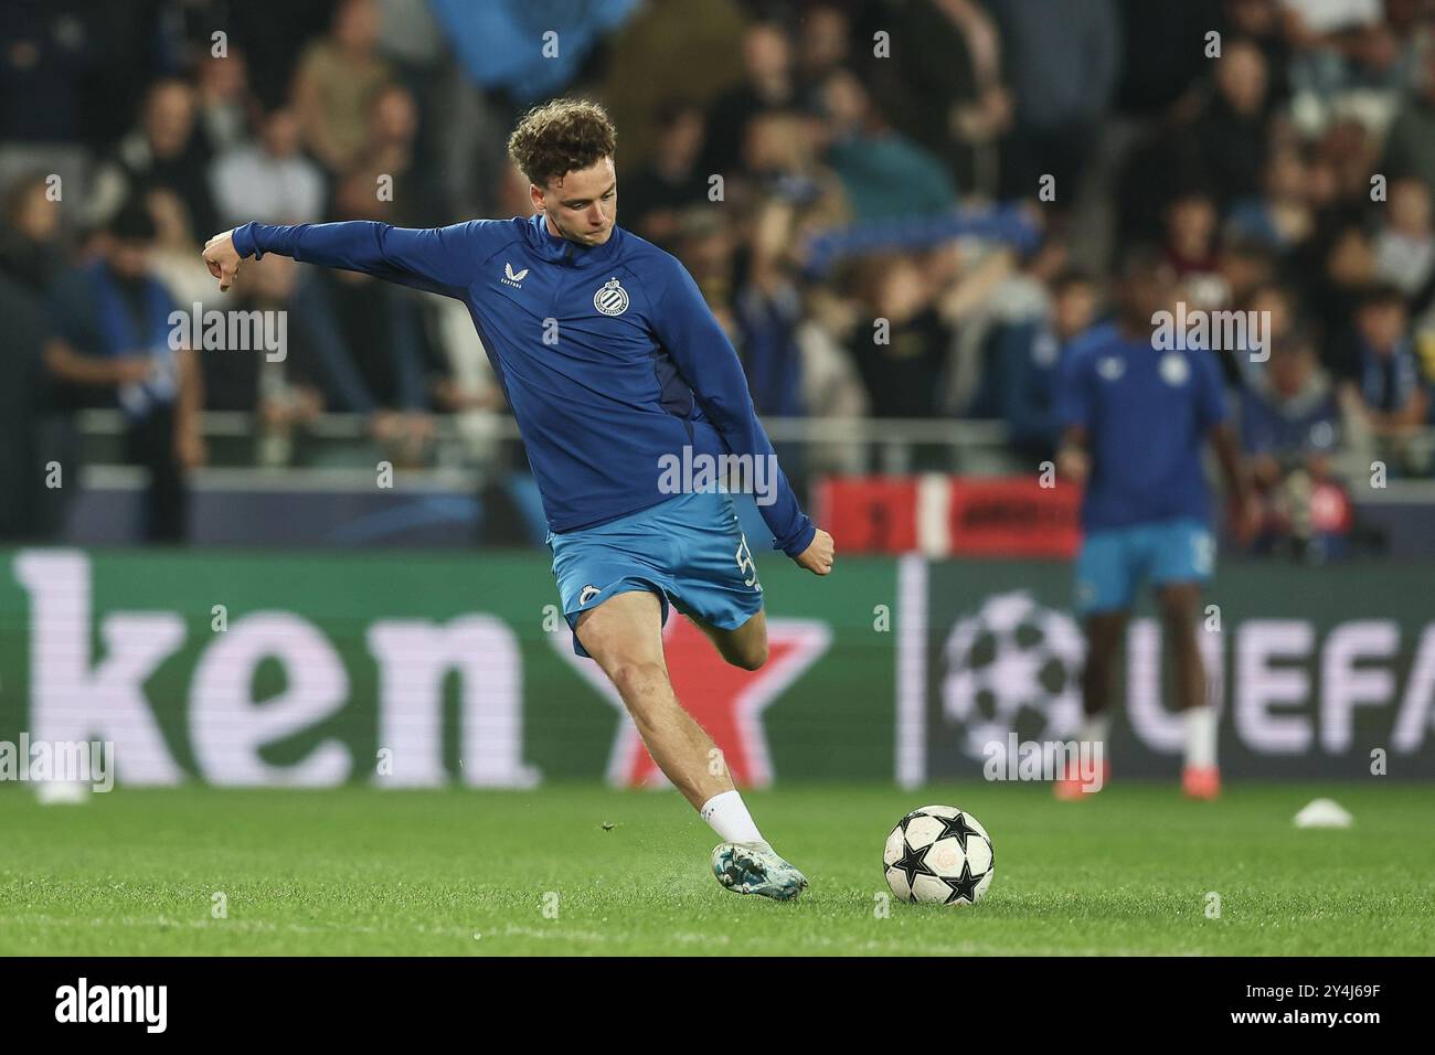
[(294, 109), (304, 142), (330, 172), (344, 172), (369, 138), (369, 105), (392, 79), (379, 55), (375, 0), (340, 0), (329, 36), (304, 49)]

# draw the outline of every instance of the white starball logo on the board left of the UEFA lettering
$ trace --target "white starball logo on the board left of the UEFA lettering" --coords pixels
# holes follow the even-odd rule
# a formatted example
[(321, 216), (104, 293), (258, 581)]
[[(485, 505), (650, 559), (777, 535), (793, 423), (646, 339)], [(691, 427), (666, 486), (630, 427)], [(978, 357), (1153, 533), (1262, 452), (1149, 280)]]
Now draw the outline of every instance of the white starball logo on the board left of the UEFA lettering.
[(961, 726), (961, 749), (989, 759), (1010, 733), (1073, 736), (1081, 722), (1085, 643), (1076, 622), (1025, 590), (987, 597), (951, 627), (943, 647), (941, 709)]

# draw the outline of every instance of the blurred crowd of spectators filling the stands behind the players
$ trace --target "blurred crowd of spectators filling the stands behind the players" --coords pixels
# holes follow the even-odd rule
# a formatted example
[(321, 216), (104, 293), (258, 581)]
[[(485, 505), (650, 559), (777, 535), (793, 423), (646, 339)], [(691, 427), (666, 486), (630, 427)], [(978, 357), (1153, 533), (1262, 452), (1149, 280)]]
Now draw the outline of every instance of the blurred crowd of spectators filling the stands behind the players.
[[(250, 220), (527, 215), (504, 144), (560, 93), (608, 108), (618, 222), (693, 273), (762, 415), (1002, 421), (1035, 471), (1065, 349), (1109, 311), (1118, 254), (1151, 244), (1188, 306), (1269, 313), (1269, 357), (1223, 353), (1266, 544), (1335, 530), (1373, 458), (1431, 475), (1425, 0), (0, 11), (0, 478), (72, 464), (75, 412), (121, 408), (154, 538), (184, 533), (201, 411), (264, 435), (362, 415), (423, 464), (438, 416), (502, 409), (461, 306), (277, 257), (221, 297), (199, 248)], [(961, 222), (982, 215), (1003, 220)], [(172, 350), (191, 306), (284, 310), (287, 355)], [(42, 505), (0, 530), (52, 533)]]

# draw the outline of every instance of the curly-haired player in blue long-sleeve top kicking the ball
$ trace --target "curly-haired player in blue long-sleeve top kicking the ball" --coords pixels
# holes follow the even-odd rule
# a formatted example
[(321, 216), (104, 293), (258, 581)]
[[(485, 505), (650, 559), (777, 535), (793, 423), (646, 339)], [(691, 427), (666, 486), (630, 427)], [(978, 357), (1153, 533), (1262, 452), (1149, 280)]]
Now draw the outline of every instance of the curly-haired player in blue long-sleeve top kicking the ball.
[(664, 458), (693, 464), (689, 448), (693, 458), (762, 459), (768, 475), (753, 478), (775, 479), (759, 501), (773, 548), (814, 574), (832, 570), (832, 537), (776, 468), (738, 355), (697, 284), (617, 225), (614, 139), (600, 106), (550, 102), (508, 141), (534, 217), (432, 230), (244, 224), (211, 238), (204, 260), (221, 290), (243, 260), (278, 253), (464, 301), (528, 449), (574, 650), (597, 660), (653, 761), (723, 840), (718, 880), (786, 900), (806, 877), (763, 840), (726, 766), (710, 765), (720, 754), (673, 695), (663, 656), (672, 603), (725, 660), (761, 667), (762, 586), (728, 492), (672, 494)]

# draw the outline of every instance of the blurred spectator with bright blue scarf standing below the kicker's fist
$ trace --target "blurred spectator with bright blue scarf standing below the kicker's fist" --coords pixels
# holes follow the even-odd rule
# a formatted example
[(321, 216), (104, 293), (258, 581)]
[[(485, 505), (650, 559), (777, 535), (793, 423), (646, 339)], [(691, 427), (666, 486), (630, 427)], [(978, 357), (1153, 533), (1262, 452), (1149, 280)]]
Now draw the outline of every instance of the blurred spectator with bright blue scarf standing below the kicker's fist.
[(175, 303), (152, 270), (155, 221), (145, 204), (121, 207), (106, 234), (102, 258), (53, 290), (44, 360), (72, 406), (123, 411), (125, 455), (149, 471), (142, 535), (181, 541), (185, 478), (205, 458), (198, 365), (192, 350), (172, 343)]

